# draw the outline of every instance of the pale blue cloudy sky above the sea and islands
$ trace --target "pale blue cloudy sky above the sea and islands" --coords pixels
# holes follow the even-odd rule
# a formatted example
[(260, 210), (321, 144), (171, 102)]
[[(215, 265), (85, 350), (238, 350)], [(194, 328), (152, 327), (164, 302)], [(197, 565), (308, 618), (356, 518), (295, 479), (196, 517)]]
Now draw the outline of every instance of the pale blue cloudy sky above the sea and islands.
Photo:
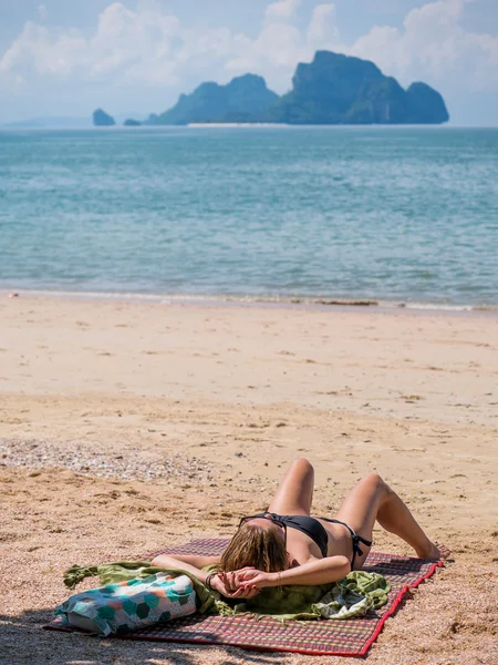
[(247, 72), (281, 94), (319, 49), (425, 81), (453, 124), (498, 125), (498, 0), (0, 0), (0, 122), (146, 116)]

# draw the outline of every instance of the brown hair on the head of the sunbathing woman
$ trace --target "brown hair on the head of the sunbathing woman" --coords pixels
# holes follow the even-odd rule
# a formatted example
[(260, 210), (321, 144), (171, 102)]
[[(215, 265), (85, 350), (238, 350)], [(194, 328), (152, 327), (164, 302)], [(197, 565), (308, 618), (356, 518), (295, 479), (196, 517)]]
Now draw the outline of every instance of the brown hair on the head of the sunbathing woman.
[(286, 541), (277, 526), (263, 529), (250, 522), (240, 525), (221, 555), (219, 570), (239, 571), (248, 565), (266, 573), (276, 573), (288, 567)]

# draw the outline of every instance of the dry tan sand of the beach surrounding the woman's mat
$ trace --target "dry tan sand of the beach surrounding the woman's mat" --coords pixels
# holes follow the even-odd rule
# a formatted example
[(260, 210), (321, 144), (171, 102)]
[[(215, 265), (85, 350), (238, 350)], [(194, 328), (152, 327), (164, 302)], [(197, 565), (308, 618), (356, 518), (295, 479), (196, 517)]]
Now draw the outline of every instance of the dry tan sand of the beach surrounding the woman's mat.
[(453, 548), (369, 662), (498, 663), (496, 316), (21, 294), (0, 320), (0, 662), (350, 663), (40, 630), (69, 565), (229, 534), (307, 457), (317, 513), (375, 470)]

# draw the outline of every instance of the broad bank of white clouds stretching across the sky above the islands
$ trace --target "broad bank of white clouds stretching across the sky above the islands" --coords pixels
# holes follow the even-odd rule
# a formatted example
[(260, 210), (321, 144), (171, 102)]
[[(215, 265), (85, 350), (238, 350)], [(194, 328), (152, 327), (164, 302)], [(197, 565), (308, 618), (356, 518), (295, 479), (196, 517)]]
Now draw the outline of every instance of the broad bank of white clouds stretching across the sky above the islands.
[(71, 85), (133, 84), (135, 91), (160, 86), (173, 94), (207, 78), (224, 82), (252, 71), (283, 92), (295, 64), (311, 60), (317, 49), (371, 59), (404, 84), (426, 80), (446, 89), (498, 91), (498, 38), (464, 28), (466, 1), (427, 2), (401, 29), (376, 25), (353, 44), (341, 43), (332, 2), (317, 4), (301, 29), (300, 0), (273, 2), (259, 34), (250, 37), (224, 27), (187, 28), (153, 0), (134, 10), (116, 1), (90, 34), (28, 22), (0, 59), (0, 91), (14, 95), (43, 85), (60, 95)]

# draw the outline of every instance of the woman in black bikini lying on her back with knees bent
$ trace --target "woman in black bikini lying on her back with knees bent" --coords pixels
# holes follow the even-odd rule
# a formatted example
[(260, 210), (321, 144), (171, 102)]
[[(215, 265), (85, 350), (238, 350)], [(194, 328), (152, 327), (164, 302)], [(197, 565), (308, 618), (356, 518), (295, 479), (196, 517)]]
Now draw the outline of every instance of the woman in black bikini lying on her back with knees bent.
[[(264, 586), (325, 584), (362, 567), (377, 521), (421, 559), (446, 559), (449, 550), (429, 541), (400, 497), (376, 473), (347, 494), (336, 519), (312, 518), (314, 470), (308, 460), (288, 469), (268, 512), (242, 518), (220, 556), (156, 556), (153, 565), (181, 567), (209, 589), (232, 598)], [(178, 566), (181, 562), (181, 566)], [(203, 567), (217, 566), (206, 573)]]

